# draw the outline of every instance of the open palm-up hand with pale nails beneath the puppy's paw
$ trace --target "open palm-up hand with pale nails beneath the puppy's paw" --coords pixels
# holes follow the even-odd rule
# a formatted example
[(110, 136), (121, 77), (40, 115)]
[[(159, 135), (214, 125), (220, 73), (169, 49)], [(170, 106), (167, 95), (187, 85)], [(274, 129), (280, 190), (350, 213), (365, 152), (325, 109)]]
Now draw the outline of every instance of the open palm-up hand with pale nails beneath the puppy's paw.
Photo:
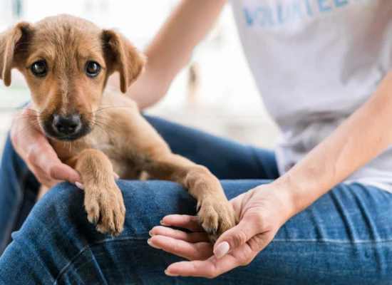
[(158, 226), (150, 231), (148, 244), (190, 260), (167, 267), (165, 273), (169, 276), (214, 278), (247, 265), (293, 214), (289, 195), (277, 188), (261, 185), (232, 199), (239, 224), (222, 234), (215, 246), (202, 232), (198, 217), (178, 214), (164, 217), (161, 224), (189, 229), (192, 233)]

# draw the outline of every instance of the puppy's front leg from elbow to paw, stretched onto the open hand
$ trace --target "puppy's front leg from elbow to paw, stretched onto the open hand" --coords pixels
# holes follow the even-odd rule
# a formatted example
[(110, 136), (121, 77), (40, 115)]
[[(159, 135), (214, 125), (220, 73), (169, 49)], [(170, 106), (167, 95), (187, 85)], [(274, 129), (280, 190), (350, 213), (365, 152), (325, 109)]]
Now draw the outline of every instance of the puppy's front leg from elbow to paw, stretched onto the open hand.
[(149, 157), (143, 168), (157, 179), (171, 180), (187, 188), (197, 199), (197, 215), (212, 242), (237, 224), (237, 216), (219, 180), (206, 167), (166, 152)]

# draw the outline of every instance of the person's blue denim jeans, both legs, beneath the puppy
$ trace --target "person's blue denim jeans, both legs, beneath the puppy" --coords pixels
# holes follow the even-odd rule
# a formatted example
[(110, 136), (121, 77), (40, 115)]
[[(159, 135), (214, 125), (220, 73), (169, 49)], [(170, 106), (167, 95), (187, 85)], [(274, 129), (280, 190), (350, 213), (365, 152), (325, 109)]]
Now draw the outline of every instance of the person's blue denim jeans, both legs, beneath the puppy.
[[(278, 177), (273, 152), (148, 120), (173, 152), (217, 175), (229, 198)], [(210, 280), (165, 276), (165, 268), (182, 259), (147, 244), (165, 215), (195, 214), (195, 200), (180, 185), (118, 181), (127, 214), (115, 238), (96, 232), (83, 191), (69, 183), (33, 206), (38, 184), (9, 140), (0, 185), (1, 244), (16, 231), (0, 257), (0, 283), (392, 284), (392, 195), (376, 187), (337, 185), (289, 219), (251, 264)]]

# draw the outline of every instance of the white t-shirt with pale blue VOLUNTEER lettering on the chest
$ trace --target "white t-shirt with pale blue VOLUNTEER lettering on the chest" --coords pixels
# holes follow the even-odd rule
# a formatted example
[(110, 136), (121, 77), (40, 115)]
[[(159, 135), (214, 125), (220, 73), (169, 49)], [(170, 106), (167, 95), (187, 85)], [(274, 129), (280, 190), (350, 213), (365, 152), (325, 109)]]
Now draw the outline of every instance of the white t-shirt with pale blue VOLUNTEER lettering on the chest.
[[(232, 0), (232, 6), (249, 67), (282, 130), (276, 152), (282, 174), (365, 103), (392, 69), (392, 0)], [(392, 192), (392, 147), (346, 182)]]

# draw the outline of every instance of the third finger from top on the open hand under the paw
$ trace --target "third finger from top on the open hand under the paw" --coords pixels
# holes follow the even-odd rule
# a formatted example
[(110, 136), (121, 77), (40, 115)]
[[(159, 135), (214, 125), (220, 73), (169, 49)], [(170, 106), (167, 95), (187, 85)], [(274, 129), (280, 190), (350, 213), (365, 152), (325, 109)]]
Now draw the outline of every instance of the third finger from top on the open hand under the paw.
[(153, 236), (148, 239), (148, 244), (156, 249), (162, 249), (179, 257), (194, 260), (204, 260), (212, 255), (212, 244), (210, 242), (199, 242), (190, 244), (178, 239), (165, 236)]

